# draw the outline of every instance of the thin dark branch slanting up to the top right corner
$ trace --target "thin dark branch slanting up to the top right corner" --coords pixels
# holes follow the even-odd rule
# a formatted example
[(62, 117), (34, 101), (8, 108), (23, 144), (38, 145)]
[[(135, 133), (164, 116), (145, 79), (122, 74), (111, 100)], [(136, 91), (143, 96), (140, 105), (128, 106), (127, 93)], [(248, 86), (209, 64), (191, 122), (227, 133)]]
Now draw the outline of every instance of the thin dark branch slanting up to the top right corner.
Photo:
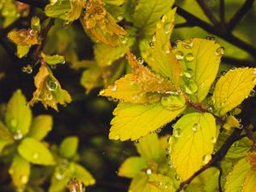
[(236, 14), (231, 18), (229, 24), (228, 24), (228, 30), (231, 32), (236, 25), (239, 23), (241, 18), (247, 14), (249, 9), (253, 8), (253, 3), (255, 0), (247, 0), (240, 9), (236, 12)]

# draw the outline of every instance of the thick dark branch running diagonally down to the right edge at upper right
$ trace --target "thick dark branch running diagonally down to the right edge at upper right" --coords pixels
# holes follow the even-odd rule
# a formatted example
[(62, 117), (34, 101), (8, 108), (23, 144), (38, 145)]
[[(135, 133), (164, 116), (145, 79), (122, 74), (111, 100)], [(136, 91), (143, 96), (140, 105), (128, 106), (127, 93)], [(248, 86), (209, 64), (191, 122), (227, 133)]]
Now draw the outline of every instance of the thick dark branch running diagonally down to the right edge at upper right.
[(256, 48), (254, 48), (252, 45), (247, 44), (246, 42), (242, 41), (240, 38), (236, 38), (236, 36), (234, 36), (230, 32), (226, 32), (224, 30), (219, 29), (218, 26), (209, 25), (206, 21), (199, 19), (195, 15), (190, 14), (189, 12), (178, 7), (177, 5), (174, 5), (174, 7), (177, 7), (177, 14), (181, 15), (185, 20), (191, 23), (191, 25), (200, 26), (206, 32), (210, 32), (218, 36), (219, 38), (223, 38), (225, 41), (229, 42), (230, 44), (236, 45), (236, 47), (246, 50), (249, 54), (256, 57)]

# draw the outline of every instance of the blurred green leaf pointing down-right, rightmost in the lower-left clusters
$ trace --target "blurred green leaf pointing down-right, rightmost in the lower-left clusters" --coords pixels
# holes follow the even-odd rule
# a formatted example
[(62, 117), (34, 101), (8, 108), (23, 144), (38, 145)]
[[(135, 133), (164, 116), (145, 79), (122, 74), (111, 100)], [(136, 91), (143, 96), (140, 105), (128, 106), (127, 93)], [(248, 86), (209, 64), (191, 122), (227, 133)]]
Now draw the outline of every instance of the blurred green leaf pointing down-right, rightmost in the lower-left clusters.
[(83, 166), (80, 166), (79, 164), (72, 163), (74, 172), (73, 177), (78, 178), (81, 180), (85, 186), (93, 185), (96, 183), (94, 177), (88, 172)]

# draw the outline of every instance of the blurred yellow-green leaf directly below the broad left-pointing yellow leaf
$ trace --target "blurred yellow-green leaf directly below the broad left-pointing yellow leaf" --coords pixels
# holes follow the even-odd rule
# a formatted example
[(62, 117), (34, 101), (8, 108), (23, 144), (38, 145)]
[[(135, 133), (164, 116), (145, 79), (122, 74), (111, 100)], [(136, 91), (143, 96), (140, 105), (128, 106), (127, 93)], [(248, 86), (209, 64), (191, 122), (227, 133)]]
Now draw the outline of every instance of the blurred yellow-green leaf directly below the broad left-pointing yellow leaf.
[(145, 160), (157, 160), (160, 157), (160, 141), (157, 134), (149, 134), (140, 138), (136, 148)]

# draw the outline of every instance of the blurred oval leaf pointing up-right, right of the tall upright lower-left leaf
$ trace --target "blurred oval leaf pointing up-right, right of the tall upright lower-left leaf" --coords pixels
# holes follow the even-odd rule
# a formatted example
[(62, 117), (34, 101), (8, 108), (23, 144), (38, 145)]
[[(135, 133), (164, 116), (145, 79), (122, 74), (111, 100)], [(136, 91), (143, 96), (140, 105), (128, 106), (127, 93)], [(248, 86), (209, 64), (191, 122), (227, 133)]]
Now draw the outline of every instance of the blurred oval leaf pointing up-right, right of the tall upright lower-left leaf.
[(38, 115), (32, 121), (32, 126), (28, 136), (37, 140), (42, 140), (47, 136), (48, 132), (52, 129), (52, 117), (47, 114)]

